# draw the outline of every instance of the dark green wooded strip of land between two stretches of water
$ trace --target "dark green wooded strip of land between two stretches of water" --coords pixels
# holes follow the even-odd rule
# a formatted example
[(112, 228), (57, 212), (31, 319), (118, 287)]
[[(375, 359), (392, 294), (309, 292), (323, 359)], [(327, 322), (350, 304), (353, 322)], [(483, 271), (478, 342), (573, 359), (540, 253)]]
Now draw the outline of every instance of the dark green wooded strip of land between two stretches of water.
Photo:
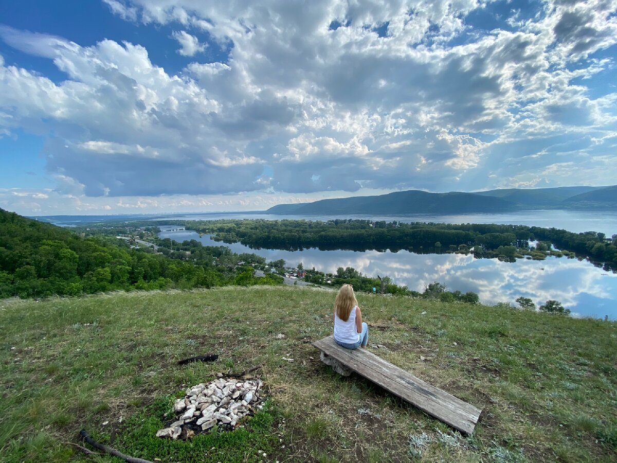
[[(366, 249), (395, 252), (470, 252), (476, 257), (503, 260), (548, 255), (576, 256), (607, 269), (617, 269), (617, 235), (587, 231), (572, 233), (557, 228), (491, 223), (402, 223), (337, 219), (310, 220), (216, 220), (182, 222), (199, 233), (215, 235), (215, 240), (236, 241), (252, 248), (297, 250), (303, 248)], [(535, 244), (530, 244), (535, 242)]]

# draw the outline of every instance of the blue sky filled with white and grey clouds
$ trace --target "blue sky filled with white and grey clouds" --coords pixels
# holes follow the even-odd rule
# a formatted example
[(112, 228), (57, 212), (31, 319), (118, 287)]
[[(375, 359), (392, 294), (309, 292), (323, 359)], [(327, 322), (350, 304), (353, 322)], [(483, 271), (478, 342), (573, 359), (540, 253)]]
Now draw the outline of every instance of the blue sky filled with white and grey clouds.
[(617, 183), (617, 2), (0, 2), (0, 207)]

